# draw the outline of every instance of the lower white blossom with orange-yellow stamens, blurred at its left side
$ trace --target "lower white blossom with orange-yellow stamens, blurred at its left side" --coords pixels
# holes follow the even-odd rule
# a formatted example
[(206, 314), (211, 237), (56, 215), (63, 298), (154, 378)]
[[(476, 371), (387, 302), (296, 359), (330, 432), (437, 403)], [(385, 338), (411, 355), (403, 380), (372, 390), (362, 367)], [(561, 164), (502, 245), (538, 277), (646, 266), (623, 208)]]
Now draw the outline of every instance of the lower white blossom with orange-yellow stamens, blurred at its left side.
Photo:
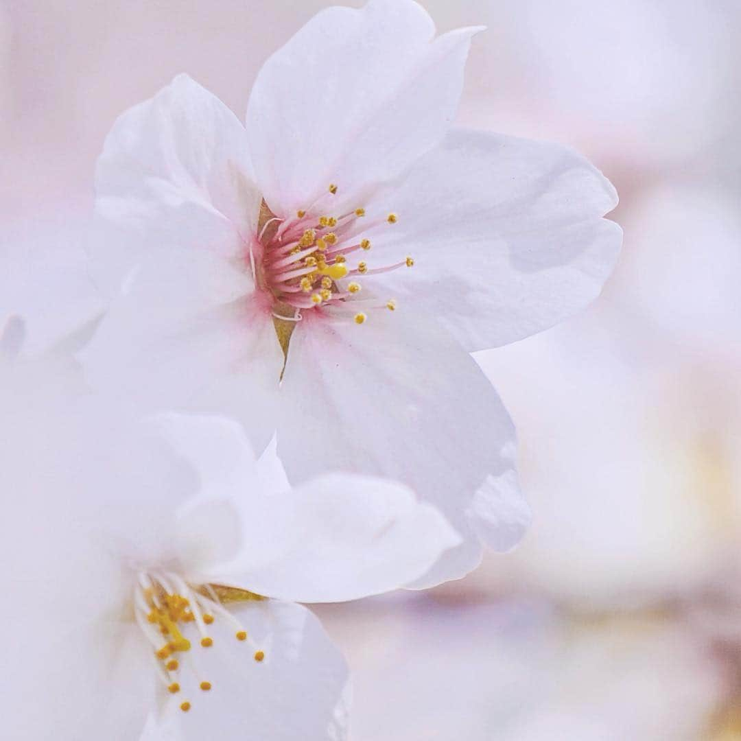
[(442, 515), (365, 476), (274, 491), (233, 420), (49, 412), (3, 420), (7, 737), (345, 739), (345, 662), (292, 600), (416, 578)]

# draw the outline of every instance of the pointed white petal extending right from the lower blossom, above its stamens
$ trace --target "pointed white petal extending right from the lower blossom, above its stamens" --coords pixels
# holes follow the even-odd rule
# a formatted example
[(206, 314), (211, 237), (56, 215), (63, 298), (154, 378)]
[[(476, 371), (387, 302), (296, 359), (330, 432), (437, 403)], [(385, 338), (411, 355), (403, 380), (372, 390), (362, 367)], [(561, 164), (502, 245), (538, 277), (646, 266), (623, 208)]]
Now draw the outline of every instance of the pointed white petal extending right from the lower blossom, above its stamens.
[(333, 473), (248, 500), (241, 558), (216, 574), (269, 597), (341, 602), (391, 591), (461, 542), (408, 488), (370, 476)]

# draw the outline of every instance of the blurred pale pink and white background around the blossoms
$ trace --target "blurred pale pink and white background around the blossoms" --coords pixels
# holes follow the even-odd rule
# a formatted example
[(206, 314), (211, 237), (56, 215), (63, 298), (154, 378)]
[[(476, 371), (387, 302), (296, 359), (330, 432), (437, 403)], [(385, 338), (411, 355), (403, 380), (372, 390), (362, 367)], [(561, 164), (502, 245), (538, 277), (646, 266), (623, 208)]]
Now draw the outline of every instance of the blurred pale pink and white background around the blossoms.
[[(113, 119), (181, 71), (240, 116), (319, 0), (4, 0), (4, 239), (70, 239)], [(359, 5), (349, 1), (347, 4)], [(426, 0), (476, 37), (462, 124), (621, 196), (587, 313), (481, 353), (536, 514), (460, 582), (319, 609), (355, 741), (741, 739), (741, 3)]]

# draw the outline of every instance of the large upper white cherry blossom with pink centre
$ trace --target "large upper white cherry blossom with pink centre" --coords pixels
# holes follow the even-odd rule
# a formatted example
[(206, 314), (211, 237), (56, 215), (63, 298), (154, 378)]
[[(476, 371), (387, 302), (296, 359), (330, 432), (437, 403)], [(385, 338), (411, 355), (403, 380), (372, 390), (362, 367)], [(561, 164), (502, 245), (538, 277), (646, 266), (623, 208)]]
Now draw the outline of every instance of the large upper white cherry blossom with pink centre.
[(330, 7), (265, 63), (246, 126), (178, 76), (119, 118), (96, 173), (94, 270), (121, 290), (89, 382), (235, 416), (257, 447), (277, 429), (292, 480), (410, 485), (465, 536), (420, 584), (529, 522), (470, 351), (582, 308), (621, 241), (613, 187), (573, 151), (451, 129), (478, 30), (436, 37), (411, 0)]

